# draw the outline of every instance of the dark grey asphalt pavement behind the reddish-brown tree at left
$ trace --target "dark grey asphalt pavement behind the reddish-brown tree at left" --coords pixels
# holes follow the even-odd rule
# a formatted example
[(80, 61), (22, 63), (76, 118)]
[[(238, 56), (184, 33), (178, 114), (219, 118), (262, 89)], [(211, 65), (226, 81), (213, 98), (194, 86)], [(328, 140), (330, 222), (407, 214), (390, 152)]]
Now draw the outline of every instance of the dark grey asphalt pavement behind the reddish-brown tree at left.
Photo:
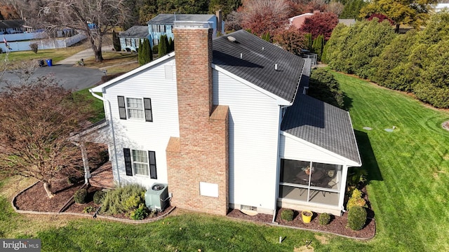
[[(34, 73), (33, 78), (51, 74), (55, 81), (68, 90), (82, 90), (92, 87), (101, 80), (103, 72), (98, 69), (90, 69), (83, 66), (74, 66), (73, 64), (56, 64), (53, 66), (39, 67)], [(17, 82), (18, 76), (12, 73), (5, 73), (0, 80), (0, 87), (6, 86), (5, 80)]]

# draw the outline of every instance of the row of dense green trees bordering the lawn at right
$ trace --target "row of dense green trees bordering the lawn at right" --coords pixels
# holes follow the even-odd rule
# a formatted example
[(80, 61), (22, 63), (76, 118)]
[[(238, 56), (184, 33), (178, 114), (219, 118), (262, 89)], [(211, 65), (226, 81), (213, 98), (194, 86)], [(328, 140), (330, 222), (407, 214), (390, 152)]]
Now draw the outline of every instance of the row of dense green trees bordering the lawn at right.
[(431, 16), (422, 30), (396, 34), (388, 21), (337, 25), (323, 62), (392, 90), (411, 92), (436, 108), (449, 108), (449, 13)]

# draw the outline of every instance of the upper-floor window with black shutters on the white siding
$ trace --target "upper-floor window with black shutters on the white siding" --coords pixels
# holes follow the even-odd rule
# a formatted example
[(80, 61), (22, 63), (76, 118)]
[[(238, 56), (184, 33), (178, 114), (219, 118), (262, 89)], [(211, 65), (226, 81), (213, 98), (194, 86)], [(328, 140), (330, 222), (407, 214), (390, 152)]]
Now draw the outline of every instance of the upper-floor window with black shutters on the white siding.
[(117, 97), (120, 119), (145, 119), (153, 121), (152, 100), (149, 98)]

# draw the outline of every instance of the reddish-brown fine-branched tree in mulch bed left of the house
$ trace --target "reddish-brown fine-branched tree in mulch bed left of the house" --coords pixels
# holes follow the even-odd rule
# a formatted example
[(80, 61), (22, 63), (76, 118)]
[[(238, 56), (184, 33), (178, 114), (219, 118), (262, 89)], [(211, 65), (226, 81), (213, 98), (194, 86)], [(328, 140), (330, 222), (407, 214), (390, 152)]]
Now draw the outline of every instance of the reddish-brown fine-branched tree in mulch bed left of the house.
[(79, 148), (69, 137), (80, 130), (89, 110), (53, 79), (29, 78), (30, 69), (19, 66), (20, 81), (0, 92), (0, 167), (38, 179), (51, 198), (55, 176), (81, 166)]

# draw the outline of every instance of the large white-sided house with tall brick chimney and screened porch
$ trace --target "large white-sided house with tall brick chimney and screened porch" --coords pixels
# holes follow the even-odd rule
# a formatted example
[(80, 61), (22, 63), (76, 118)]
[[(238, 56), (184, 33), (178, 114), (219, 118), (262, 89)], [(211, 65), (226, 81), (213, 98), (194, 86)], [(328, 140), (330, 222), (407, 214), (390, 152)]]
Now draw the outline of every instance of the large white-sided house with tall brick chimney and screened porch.
[(175, 52), (90, 90), (115, 183), (166, 183), (172, 205), (212, 214), (342, 214), (348, 168), (361, 166), (349, 112), (305, 94), (309, 59), (212, 28), (175, 22)]

